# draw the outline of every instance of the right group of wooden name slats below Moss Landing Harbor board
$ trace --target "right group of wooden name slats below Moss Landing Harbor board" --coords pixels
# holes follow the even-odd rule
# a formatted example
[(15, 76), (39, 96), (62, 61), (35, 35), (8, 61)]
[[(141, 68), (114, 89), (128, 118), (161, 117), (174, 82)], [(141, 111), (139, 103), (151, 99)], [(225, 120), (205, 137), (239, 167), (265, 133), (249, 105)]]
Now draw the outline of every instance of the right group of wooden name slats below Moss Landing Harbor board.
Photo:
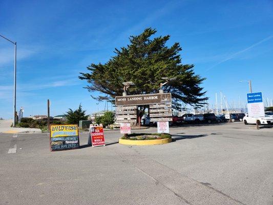
[(171, 104), (153, 104), (150, 105), (150, 121), (173, 121)]

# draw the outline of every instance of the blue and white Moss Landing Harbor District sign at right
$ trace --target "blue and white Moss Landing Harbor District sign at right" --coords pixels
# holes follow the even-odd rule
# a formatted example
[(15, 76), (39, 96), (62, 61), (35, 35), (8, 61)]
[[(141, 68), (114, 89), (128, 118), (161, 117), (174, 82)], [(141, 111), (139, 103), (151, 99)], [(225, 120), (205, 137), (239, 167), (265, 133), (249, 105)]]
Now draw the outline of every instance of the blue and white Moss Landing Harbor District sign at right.
[(249, 117), (264, 117), (264, 103), (261, 92), (247, 93), (247, 112)]

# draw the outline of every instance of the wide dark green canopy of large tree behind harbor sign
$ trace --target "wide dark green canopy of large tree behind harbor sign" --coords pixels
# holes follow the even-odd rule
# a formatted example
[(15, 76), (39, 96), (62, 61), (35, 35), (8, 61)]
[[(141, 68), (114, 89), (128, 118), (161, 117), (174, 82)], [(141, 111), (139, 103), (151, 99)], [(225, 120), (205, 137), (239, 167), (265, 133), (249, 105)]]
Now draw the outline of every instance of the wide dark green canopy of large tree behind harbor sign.
[[(79, 78), (87, 80), (86, 87), (95, 99), (108, 98), (114, 103), (115, 96), (122, 95), (123, 82), (133, 81), (128, 95), (158, 93), (162, 77), (175, 78), (163, 86), (164, 92), (171, 92), (173, 107), (182, 109), (182, 103), (196, 108), (202, 107), (205, 92), (200, 87), (205, 78), (195, 74), (194, 65), (182, 65), (179, 43), (166, 46), (170, 35), (151, 38), (157, 31), (147, 28), (137, 36), (130, 36), (130, 44), (115, 49), (115, 56), (106, 64), (91, 64), (87, 73)], [(95, 96), (94, 91), (101, 95)]]

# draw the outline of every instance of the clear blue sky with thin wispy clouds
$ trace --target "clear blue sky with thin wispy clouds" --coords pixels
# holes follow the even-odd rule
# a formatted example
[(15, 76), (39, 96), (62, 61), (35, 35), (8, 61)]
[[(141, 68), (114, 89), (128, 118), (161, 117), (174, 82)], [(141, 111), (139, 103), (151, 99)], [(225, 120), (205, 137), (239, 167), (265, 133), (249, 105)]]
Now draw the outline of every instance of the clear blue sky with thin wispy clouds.
[[(114, 48), (145, 28), (179, 42), (182, 63), (195, 72), (214, 104), (246, 102), (247, 83), (273, 99), (273, 2), (261, 1), (5, 1), (0, 34), (17, 42), (17, 110), (25, 116), (75, 109), (103, 110), (78, 79), (91, 63), (106, 63)], [(12, 117), (13, 45), (0, 39), (0, 117)], [(111, 106), (109, 105), (111, 110)]]

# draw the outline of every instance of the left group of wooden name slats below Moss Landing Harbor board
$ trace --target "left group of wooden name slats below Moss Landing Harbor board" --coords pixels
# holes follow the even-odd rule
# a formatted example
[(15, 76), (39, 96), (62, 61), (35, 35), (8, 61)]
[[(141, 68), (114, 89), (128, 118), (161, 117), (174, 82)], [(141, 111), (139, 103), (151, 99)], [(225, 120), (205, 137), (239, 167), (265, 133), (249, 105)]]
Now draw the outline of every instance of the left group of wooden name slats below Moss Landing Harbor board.
[(137, 106), (117, 106), (116, 107), (116, 122), (130, 123), (136, 122)]

